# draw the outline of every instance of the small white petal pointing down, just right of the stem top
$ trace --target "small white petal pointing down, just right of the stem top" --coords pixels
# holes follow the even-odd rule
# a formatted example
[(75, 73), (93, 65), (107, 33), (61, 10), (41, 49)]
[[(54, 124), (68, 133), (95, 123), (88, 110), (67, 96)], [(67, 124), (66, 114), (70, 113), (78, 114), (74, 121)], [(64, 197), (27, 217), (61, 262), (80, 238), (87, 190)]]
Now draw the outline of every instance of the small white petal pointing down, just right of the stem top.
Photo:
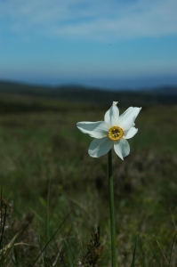
[(129, 143), (122, 138), (119, 141), (114, 142), (114, 150), (118, 157), (124, 160), (124, 158), (130, 153)]

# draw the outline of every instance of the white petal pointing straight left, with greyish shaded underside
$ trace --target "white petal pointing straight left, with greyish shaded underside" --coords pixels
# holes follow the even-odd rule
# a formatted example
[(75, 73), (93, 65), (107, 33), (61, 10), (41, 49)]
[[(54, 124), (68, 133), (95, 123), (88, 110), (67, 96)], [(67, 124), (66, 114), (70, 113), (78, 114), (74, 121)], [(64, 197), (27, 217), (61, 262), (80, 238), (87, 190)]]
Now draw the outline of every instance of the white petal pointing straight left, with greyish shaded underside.
[(108, 125), (104, 121), (89, 122), (83, 121), (76, 124), (77, 128), (84, 134), (89, 134), (94, 138), (107, 136), (109, 131)]

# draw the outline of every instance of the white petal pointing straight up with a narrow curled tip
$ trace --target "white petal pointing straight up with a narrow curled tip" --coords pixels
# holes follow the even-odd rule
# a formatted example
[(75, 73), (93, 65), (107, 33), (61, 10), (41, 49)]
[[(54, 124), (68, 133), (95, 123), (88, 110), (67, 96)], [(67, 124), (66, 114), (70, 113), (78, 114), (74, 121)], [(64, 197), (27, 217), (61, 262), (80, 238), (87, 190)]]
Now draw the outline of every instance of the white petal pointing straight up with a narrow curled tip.
[(106, 112), (104, 121), (109, 126), (118, 126), (119, 109), (117, 108), (117, 102), (113, 102), (111, 108)]

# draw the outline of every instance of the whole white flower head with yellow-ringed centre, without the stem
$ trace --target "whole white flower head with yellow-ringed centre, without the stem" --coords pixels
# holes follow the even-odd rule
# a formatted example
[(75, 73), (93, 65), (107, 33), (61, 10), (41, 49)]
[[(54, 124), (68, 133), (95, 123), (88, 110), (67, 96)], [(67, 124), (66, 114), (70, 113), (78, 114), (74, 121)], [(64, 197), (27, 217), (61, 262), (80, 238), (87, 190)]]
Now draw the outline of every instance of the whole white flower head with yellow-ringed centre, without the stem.
[(141, 108), (130, 107), (119, 116), (117, 102), (113, 102), (106, 112), (104, 121), (78, 122), (77, 128), (93, 138), (88, 153), (93, 158), (99, 158), (109, 152), (114, 145), (118, 157), (123, 159), (130, 153), (130, 146), (126, 139), (132, 138), (138, 132), (134, 127), (134, 120)]

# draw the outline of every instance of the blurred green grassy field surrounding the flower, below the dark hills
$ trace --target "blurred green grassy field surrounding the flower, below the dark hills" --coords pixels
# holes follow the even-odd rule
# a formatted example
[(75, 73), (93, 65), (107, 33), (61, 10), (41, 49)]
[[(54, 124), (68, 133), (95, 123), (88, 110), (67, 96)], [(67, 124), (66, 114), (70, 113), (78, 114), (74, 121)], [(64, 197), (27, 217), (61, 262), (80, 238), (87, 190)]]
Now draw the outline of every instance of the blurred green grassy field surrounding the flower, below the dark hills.
[[(8, 101), (0, 109), (0, 266), (78, 266), (100, 226), (98, 266), (109, 267), (108, 158), (89, 157), (92, 138), (76, 122), (103, 120), (112, 103), (41, 100), (36, 110), (24, 96), (13, 100), (20, 109)], [(135, 266), (177, 266), (176, 113), (142, 108), (131, 154), (113, 153), (117, 266), (131, 266), (138, 233)]]

